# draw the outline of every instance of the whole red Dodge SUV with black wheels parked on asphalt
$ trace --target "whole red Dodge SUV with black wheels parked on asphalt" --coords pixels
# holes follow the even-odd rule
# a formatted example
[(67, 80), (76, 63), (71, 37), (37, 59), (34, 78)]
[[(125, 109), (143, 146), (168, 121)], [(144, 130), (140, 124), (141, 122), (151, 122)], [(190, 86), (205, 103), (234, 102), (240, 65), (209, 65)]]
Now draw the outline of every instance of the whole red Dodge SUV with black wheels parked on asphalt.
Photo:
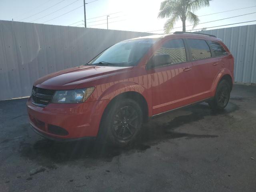
[(213, 35), (175, 32), (119, 42), (89, 63), (38, 79), (27, 109), (54, 140), (132, 142), (149, 117), (196, 102), (226, 107), (234, 58)]

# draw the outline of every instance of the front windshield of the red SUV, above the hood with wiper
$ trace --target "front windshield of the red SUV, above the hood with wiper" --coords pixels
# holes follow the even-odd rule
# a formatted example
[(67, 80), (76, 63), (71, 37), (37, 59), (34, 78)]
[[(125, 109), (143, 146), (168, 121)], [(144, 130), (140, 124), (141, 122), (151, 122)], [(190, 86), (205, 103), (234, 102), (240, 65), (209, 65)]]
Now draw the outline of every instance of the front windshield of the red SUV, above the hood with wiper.
[(117, 43), (96, 56), (88, 65), (135, 66), (156, 40), (139, 39)]

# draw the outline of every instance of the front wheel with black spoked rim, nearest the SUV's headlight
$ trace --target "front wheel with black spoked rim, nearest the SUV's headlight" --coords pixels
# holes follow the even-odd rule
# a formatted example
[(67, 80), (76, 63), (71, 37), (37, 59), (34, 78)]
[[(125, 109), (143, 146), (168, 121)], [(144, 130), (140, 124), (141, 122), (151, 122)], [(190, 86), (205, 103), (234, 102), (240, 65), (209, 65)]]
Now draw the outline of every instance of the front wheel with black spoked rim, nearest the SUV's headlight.
[(136, 139), (143, 122), (140, 105), (132, 99), (116, 100), (104, 112), (98, 133), (98, 141), (125, 147)]

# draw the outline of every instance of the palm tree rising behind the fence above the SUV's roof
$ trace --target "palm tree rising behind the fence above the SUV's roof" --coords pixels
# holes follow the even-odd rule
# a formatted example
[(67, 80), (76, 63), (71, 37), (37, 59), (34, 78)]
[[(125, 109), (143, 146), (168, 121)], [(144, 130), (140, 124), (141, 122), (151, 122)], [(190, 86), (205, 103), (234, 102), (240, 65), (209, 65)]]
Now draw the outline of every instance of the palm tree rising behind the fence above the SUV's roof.
[(160, 6), (158, 18), (169, 18), (164, 24), (164, 32), (173, 29), (178, 20), (182, 20), (182, 31), (186, 32), (186, 20), (193, 24), (193, 28), (199, 23), (199, 18), (192, 11), (210, 6), (211, 0), (164, 0)]

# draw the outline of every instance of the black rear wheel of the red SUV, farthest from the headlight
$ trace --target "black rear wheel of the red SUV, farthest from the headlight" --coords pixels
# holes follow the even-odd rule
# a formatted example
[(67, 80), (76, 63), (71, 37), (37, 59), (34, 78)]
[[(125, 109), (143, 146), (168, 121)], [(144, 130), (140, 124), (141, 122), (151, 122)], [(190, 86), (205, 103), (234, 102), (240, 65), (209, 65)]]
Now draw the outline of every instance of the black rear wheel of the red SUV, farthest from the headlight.
[(217, 86), (214, 98), (208, 102), (213, 110), (223, 110), (229, 101), (231, 88), (227, 80), (221, 80)]

